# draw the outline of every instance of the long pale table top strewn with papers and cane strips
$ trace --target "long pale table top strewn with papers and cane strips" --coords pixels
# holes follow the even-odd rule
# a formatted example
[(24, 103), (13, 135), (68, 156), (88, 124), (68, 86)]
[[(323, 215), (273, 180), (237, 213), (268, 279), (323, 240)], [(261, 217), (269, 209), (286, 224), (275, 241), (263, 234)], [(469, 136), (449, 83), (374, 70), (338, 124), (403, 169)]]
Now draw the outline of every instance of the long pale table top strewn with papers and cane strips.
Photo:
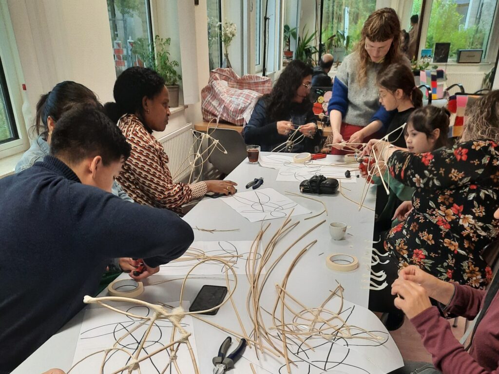
[[(341, 162), (343, 157), (327, 156), (331, 162)], [(274, 188), (284, 193), (291, 191), (299, 193), (299, 182), (277, 182), (275, 180), (277, 170), (263, 168), (258, 164), (250, 164), (244, 160), (227, 179), (238, 183), (238, 191), (246, 191), (246, 184), (253, 178), (263, 177), (264, 183), (260, 188)], [(359, 201), (364, 180), (359, 178), (357, 183), (344, 184), (344, 187), (351, 191), (345, 191), (350, 198)], [(292, 221), (300, 221), (298, 226), (286, 235), (278, 244), (278, 249), (287, 248), (297, 237), (306, 232), (309, 228), (322, 220), (324, 224), (318, 227), (313, 233), (303, 238), (293, 249), (291, 249), (277, 264), (267, 281), (267, 286), (262, 296), (261, 305), (265, 308), (271, 308), (276, 297), (274, 285), (280, 283), (283, 274), (287, 270), (290, 261), (295, 257), (299, 250), (313, 240), (317, 243), (310, 248), (300, 259), (298, 265), (293, 270), (287, 289), (292, 291), (294, 296), (299, 297), (300, 301), (309, 306), (318, 306), (327, 296), (328, 290), (334, 289), (338, 281), (345, 288), (345, 299), (361, 306), (367, 307), (369, 296), (369, 263), (372, 249), (372, 234), (374, 223), (374, 212), (363, 208), (358, 211), (356, 204), (348, 201), (339, 193), (334, 196), (326, 195), (304, 195), (319, 198), (327, 206), (328, 216), (322, 214), (310, 220), (304, 220), (313, 214), (322, 211), (321, 204), (295, 196), (288, 196), (298, 204), (309, 208), (312, 214), (292, 217)], [(375, 192), (370, 189), (364, 204), (374, 208)], [(250, 223), (246, 218), (230, 208), (226, 203), (219, 199), (205, 198), (195, 208), (193, 208), (184, 218), (191, 226), (202, 229), (239, 229), (234, 232), (216, 232), (209, 233), (194, 230), (196, 241), (251, 241), (260, 230), (262, 223)], [(264, 221), (264, 224), (270, 223), (271, 227), (263, 237), (263, 243), (266, 243), (270, 237), (282, 224), (283, 219), (274, 219)], [(329, 223), (335, 221), (345, 222), (349, 228), (345, 240), (333, 241), (329, 235)], [(333, 271), (326, 267), (325, 258), (331, 253), (351, 253), (359, 259), (359, 267), (350, 272)], [(274, 252), (274, 258), (280, 254)], [(126, 278), (128, 275), (122, 274)], [(249, 318), (246, 312), (246, 297), (248, 292), (248, 282), (245, 276), (239, 276), (238, 289), (234, 294), (236, 304), (240, 306), (240, 313), (245, 325), (248, 327)], [(158, 300), (169, 302), (177, 301), (181, 281), (173, 281), (154, 286), (147, 286), (147, 280), (144, 282), (145, 292), (139, 297), (141, 299), (156, 302)], [(225, 285), (225, 280), (221, 279), (192, 279), (189, 280), (184, 299), (192, 301), (203, 284)], [(103, 291), (102, 295), (106, 295)], [(64, 306), (60, 306), (64, 307)], [(87, 306), (87, 308), (92, 306)], [(223, 324), (227, 328), (240, 331), (239, 324), (231, 316), (232, 307), (226, 304), (219, 311), (217, 316), (207, 318), (214, 322)], [(13, 373), (15, 374), (37, 374), (42, 373), (49, 368), (58, 367), (68, 370), (71, 367), (76, 348), (77, 339), (80, 332), (83, 313), (75, 316), (59, 333), (50, 338), (42, 347), (33, 353), (23, 364), (21, 364)], [(250, 329), (249, 329), (250, 330)], [(216, 356), (218, 347), (226, 333), (217, 331), (213, 328), (207, 329), (207, 325), (196, 321), (195, 323), (196, 345), (198, 347), (198, 364), (201, 373), (211, 372), (213, 370), (212, 358)], [(233, 344), (234, 348), (234, 344)], [(251, 373), (248, 364), (237, 365), (236, 373)]]

